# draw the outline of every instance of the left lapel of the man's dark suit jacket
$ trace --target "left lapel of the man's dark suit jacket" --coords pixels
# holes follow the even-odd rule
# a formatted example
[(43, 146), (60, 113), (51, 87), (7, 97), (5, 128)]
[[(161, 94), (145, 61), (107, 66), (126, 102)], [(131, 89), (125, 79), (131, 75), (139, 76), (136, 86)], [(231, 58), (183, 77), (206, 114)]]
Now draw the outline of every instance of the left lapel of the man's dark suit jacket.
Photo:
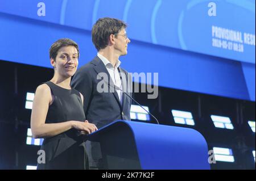
[[(110, 77), (110, 74), (109, 74), (109, 71), (106, 69), (104, 63), (100, 60), (100, 58), (98, 56), (96, 56), (93, 61), (91, 62), (91, 64), (94, 64), (94, 70), (96, 71), (97, 74), (99, 73), (106, 73), (108, 75), (108, 78), (109, 78), (109, 81), (110, 81), (110, 85), (113, 85), (114, 86), (114, 82), (112, 80), (112, 78)], [(108, 83), (108, 81), (107, 81)], [(108, 85), (109, 86), (109, 85)], [(113, 87), (110, 87), (110, 89), (113, 90)], [(118, 102), (118, 105), (121, 107), (121, 103), (120, 103), (120, 100), (118, 98), (118, 94), (117, 94), (117, 91), (114, 90), (113, 92), (113, 95), (115, 97), (115, 99), (117, 100)]]

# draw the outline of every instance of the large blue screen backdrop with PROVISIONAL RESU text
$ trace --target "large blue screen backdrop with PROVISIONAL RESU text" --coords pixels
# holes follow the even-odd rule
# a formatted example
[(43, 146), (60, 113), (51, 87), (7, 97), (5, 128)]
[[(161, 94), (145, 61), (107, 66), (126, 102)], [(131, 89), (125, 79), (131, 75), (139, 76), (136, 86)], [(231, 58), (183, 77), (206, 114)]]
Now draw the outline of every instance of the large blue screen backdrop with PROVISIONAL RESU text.
[(69, 37), (84, 65), (97, 53), (90, 30), (105, 16), (129, 26), (129, 53), (120, 57), (128, 71), (157, 72), (164, 87), (255, 101), (251, 0), (0, 0), (0, 60), (51, 67), (49, 47)]

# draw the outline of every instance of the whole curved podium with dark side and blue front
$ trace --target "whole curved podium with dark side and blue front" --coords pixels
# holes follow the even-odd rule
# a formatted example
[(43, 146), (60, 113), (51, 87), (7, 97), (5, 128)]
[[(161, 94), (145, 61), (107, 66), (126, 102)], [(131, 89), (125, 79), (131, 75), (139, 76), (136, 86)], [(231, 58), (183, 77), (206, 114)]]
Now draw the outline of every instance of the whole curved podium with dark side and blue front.
[(118, 120), (89, 134), (104, 169), (208, 170), (208, 146), (194, 129)]

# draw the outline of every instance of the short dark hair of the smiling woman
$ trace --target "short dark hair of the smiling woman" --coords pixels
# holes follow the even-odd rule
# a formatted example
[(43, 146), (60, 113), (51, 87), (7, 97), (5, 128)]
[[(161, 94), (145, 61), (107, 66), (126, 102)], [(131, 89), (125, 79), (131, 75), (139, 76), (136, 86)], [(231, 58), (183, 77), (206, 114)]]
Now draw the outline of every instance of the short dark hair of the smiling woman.
[(77, 54), (79, 57), (79, 47), (77, 45), (77, 43), (71, 39), (68, 38), (64, 38), (64, 39), (59, 39), (57, 41), (55, 41), (55, 43), (53, 43), (51, 45), (51, 48), (49, 49), (49, 57), (50, 59), (53, 58), (53, 60), (55, 61), (55, 58), (57, 56), (57, 53), (59, 51), (59, 49), (61, 47), (67, 47), (67, 46), (73, 46), (77, 49)]

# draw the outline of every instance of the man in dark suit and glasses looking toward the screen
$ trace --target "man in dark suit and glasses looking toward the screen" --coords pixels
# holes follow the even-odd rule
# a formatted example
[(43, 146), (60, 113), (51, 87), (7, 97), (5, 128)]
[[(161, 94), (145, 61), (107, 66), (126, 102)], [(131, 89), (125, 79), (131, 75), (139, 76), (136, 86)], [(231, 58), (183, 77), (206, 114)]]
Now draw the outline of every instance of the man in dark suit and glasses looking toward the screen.
[[(104, 127), (115, 120), (130, 120), (131, 77), (120, 68), (119, 56), (127, 54), (127, 25), (114, 18), (98, 19), (92, 28), (92, 41), (98, 50), (97, 56), (82, 66), (72, 79), (72, 87), (84, 95), (84, 112), (89, 123), (97, 128)], [(107, 75), (107, 79), (102, 79)], [(101, 79), (100, 79), (101, 77)], [(104, 77), (104, 76), (103, 76)], [(103, 84), (102, 84), (103, 83)], [(107, 91), (102, 92), (102, 86)], [(113, 87), (119, 89), (113, 90)], [(128, 88), (128, 89), (127, 89)], [(102, 155), (97, 142), (86, 142), (90, 169), (102, 169)]]

